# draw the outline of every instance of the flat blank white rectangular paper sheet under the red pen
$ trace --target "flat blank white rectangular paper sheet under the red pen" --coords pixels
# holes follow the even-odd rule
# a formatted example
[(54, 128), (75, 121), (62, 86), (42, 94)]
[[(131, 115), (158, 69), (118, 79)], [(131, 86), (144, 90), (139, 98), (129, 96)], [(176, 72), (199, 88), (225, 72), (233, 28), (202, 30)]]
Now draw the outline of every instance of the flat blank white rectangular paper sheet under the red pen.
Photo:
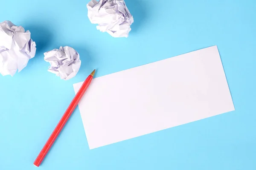
[[(76, 93), (81, 84), (74, 84)], [(95, 78), (79, 110), (93, 149), (234, 111), (234, 105), (212, 46)]]

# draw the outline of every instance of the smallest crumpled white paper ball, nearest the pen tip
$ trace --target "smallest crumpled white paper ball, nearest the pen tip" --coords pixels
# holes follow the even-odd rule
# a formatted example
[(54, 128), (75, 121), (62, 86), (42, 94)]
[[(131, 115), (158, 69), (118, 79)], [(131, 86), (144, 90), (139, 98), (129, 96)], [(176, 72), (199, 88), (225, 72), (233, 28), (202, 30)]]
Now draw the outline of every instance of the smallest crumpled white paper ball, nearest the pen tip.
[(69, 46), (45, 52), (44, 60), (51, 65), (48, 71), (64, 80), (75, 77), (81, 66), (78, 52)]

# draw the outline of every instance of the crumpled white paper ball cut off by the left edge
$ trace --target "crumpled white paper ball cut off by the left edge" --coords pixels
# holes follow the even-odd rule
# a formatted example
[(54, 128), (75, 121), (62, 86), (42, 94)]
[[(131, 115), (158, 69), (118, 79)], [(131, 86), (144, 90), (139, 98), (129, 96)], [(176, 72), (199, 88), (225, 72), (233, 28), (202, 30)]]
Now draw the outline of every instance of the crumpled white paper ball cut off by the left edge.
[(35, 57), (35, 42), (30, 32), (11, 21), (0, 23), (0, 74), (13, 76)]

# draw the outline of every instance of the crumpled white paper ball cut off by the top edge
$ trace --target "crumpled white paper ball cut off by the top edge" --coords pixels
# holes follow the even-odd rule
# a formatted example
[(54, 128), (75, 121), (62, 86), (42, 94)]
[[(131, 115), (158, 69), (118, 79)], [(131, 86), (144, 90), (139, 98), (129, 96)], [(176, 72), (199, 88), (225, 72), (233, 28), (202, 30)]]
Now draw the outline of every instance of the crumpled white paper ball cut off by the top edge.
[(91, 0), (87, 4), (88, 17), (96, 28), (112, 37), (128, 37), (134, 19), (124, 0)]

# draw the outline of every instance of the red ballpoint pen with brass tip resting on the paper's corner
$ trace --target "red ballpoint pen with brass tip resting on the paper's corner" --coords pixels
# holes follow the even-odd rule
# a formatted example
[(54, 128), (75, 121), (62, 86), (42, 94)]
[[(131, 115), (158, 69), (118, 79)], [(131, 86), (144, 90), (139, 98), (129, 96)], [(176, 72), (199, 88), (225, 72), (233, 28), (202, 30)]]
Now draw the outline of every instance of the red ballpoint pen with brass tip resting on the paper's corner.
[(43, 149), (39, 153), (38, 157), (34, 161), (34, 165), (39, 167), (41, 162), (44, 160), (44, 157), (47, 155), (49, 149), (51, 148), (52, 144), (54, 143), (55, 139), (58, 137), (59, 133), (61, 132), (62, 128), (66, 124), (67, 120), (70, 118), (71, 114), (75, 110), (76, 106), (78, 105), (80, 99), (84, 95), (84, 92), (89, 87), (90, 83), (92, 82), (93, 75), (95, 73), (95, 70), (87, 77), (87, 79), (84, 80), (83, 85), (77, 92), (76, 96), (68, 106), (67, 110), (65, 111), (64, 115), (61, 117), (61, 120), (58, 122), (58, 125), (53, 130), (51, 136), (47, 140), (46, 144), (44, 145)]

